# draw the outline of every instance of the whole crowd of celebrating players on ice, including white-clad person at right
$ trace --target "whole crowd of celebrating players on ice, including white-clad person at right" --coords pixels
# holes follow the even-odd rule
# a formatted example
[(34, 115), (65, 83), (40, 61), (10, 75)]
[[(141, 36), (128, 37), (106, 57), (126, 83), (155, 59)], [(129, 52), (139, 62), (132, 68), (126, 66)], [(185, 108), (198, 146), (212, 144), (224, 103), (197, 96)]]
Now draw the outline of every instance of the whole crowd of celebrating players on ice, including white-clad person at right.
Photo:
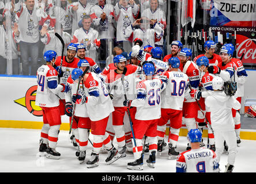
[[(191, 49), (183, 48), (180, 41), (172, 42), (170, 55), (163, 59), (161, 48), (142, 48), (140, 39), (134, 44), (129, 54), (114, 56), (102, 71), (85, 57), (83, 44), (69, 44), (63, 58), (55, 51), (44, 52), (46, 64), (37, 71), (36, 105), (43, 110), (44, 122), (39, 152), (60, 159), (55, 148), (61, 116), (66, 114), (80, 163), (86, 159), (90, 133), (93, 136), (87, 168), (98, 166), (103, 147), (108, 152), (106, 164), (132, 151), (135, 161), (127, 164), (128, 169), (142, 170), (145, 152), (147, 165), (155, 167), (157, 152), (168, 140), (168, 156), (177, 159), (177, 172), (218, 172), (224, 146), (228, 147), (225, 172), (232, 172), (241, 142), (239, 109), (248, 77), (241, 60), (232, 57), (235, 47), (225, 44), (217, 55), (216, 43), (209, 40), (205, 54), (193, 60)], [(224, 83), (234, 81), (235, 95), (226, 94)], [(190, 142), (180, 154), (175, 149), (183, 124)], [(204, 127), (209, 149), (203, 148)]]

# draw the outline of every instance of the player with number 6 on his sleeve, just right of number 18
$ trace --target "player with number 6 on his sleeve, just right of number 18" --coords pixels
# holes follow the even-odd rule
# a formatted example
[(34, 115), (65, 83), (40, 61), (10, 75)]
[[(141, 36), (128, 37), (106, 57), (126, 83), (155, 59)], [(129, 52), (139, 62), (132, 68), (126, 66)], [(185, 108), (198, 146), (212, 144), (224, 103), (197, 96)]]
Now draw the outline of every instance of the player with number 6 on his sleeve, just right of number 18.
[[(192, 51), (189, 48), (181, 49), (180, 53), (180, 63), (183, 68), (183, 73), (187, 74), (188, 80), (190, 81), (190, 86), (192, 89), (198, 89), (200, 76), (199, 76), (199, 69), (198, 66), (192, 62), (191, 56)], [(184, 124), (186, 125), (188, 132), (190, 129), (196, 128), (196, 118), (198, 116), (198, 104), (196, 103), (195, 99), (188, 98), (184, 101), (183, 104), (183, 116), (184, 116)], [(201, 146), (203, 146), (203, 142)], [(188, 143), (187, 150), (190, 149), (190, 145)]]

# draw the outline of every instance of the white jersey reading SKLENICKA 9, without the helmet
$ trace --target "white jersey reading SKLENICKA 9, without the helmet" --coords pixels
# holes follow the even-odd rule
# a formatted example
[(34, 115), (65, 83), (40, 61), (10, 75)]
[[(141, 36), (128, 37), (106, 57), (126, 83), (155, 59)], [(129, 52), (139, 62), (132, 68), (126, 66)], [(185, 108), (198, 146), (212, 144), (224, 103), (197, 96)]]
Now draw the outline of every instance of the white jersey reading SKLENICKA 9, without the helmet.
[(207, 148), (191, 149), (179, 155), (177, 173), (213, 173), (216, 167), (216, 153)]

